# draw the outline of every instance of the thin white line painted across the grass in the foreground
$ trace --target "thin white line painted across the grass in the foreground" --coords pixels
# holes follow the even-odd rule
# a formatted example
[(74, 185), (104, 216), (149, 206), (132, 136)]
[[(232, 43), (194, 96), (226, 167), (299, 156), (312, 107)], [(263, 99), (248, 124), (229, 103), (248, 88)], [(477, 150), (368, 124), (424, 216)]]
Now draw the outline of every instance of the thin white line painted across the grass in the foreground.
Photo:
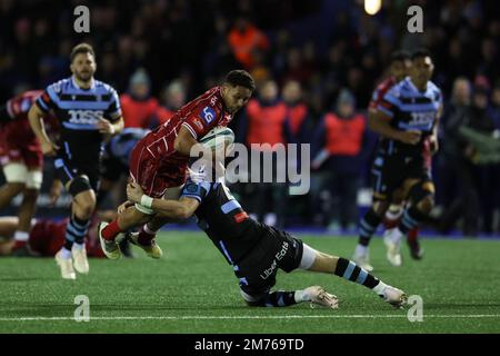
[[(378, 319), (407, 318), (407, 315), (253, 315), (253, 316), (98, 316), (91, 320), (226, 320), (226, 319)], [(423, 315), (423, 318), (500, 318), (500, 314)], [(0, 318), (0, 322), (58, 322), (74, 320), (73, 317), (18, 317)]]

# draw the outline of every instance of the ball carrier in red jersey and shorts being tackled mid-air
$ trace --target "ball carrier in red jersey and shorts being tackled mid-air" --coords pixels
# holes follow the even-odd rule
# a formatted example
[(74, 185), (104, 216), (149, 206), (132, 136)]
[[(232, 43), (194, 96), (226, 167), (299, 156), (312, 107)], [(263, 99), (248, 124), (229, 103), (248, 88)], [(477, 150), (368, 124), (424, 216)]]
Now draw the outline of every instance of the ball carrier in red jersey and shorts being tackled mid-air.
[[(183, 106), (166, 123), (147, 135), (133, 148), (130, 158), (130, 178), (153, 198), (179, 198), (188, 171), (191, 148), (198, 139), (217, 126), (228, 126), (233, 115), (247, 105), (256, 85), (244, 70), (230, 71), (220, 87), (214, 87)], [(99, 225), (103, 248), (119, 258), (114, 239), (118, 234), (144, 224), (137, 239), (148, 256), (160, 258), (161, 249), (154, 243), (156, 233), (167, 224), (156, 218), (151, 201), (134, 204), (121, 211), (110, 224)]]

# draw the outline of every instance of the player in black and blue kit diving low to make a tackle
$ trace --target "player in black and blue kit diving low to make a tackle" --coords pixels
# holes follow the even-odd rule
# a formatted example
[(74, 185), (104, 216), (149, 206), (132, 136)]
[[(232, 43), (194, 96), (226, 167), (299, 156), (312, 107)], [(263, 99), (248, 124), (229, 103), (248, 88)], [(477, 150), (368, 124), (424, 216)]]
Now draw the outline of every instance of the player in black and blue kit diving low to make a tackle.
[[(127, 195), (131, 201), (149, 200), (153, 211), (171, 219), (186, 219), (196, 214), (198, 226), (232, 266), (241, 295), (249, 306), (286, 307), (311, 301), (338, 307), (337, 297), (319, 286), (271, 291), (278, 269), (334, 274), (372, 289), (396, 307), (406, 301), (402, 290), (386, 285), (353, 261), (318, 251), (286, 231), (251, 219), (223, 182), (188, 181), (179, 200), (144, 196), (136, 182), (129, 184)], [(137, 243), (133, 235), (129, 238)], [(116, 259), (116, 251), (103, 250)]]

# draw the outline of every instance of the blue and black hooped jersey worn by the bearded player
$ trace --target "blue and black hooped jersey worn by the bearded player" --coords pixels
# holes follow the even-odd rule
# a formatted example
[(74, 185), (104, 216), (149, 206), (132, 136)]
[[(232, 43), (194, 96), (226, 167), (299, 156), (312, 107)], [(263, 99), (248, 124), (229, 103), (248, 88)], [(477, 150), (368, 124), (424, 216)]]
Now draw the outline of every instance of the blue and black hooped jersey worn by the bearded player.
[(58, 118), (61, 137), (59, 146), (68, 159), (98, 164), (103, 135), (97, 127), (99, 118), (110, 122), (121, 117), (117, 91), (107, 83), (92, 80), (81, 89), (73, 77), (47, 87), (36, 101), (43, 112), (52, 110)]

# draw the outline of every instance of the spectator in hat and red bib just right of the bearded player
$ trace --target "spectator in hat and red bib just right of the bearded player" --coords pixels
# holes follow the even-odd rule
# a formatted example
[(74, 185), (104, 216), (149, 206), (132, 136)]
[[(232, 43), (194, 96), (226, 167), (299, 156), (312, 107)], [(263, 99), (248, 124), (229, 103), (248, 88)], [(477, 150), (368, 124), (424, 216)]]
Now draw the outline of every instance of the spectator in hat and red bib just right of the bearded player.
[(158, 100), (151, 97), (151, 80), (148, 72), (139, 68), (130, 77), (129, 91), (120, 96), (124, 127), (152, 128)]

